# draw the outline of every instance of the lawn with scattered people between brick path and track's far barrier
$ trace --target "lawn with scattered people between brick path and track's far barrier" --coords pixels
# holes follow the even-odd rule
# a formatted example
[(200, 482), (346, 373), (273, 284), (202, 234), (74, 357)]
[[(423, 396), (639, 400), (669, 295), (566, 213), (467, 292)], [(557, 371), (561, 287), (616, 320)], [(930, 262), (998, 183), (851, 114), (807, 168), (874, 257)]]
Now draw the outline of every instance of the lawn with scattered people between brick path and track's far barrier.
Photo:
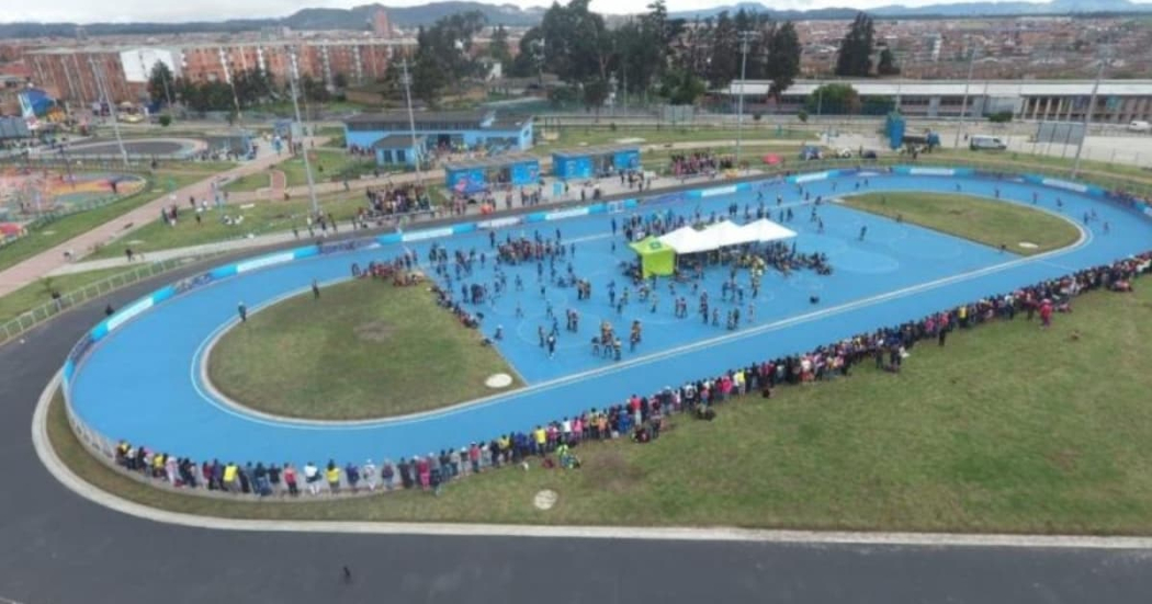
[[(364, 194), (358, 192), (320, 199), (320, 208), (324, 213), (331, 213), (336, 219), (341, 231), (351, 228), (348, 221), (356, 209), (364, 205)], [(226, 242), (249, 235), (286, 232), (293, 227), (297, 227), (302, 236), (306, 237), (306, 219), (311, 208), (311, 201), (306, 197), (291, 201), (257, 201), (251, 204), (249, 208), (242, 208), (240, 204), (232, 204), (225, 206), (225, 215), (234, 219), (243, 216), (244, 220), (240, 224), (225, 224), (220, 220), (220, 213), (215, 209), (202, 214), (202, 222), (197, 224), (195, 214), (188, 212), (185, 206), (181, 209), (181, 217), (175, 227), (160, 222), (159, 216), (157, 216), (156, 220), (132, 231), (122, 240), (97, 250), (89, 259), (123, 255), (126, 246), (147, 254), (158, 250)]]

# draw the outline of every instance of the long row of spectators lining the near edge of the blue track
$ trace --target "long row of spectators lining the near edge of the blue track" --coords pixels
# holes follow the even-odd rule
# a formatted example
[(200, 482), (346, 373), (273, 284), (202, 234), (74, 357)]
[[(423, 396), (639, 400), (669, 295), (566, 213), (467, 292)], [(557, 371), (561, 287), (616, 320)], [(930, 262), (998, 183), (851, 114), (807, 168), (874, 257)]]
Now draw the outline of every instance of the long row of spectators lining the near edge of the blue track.
[[(435, 258), (440, 257), (437, 251)], [(397, 266), (403, 265), (404, 260), (400, 260)], [(411, 259), (408, 266), (411, 266)], [(526, 469), (535, 462), (547, 468), (578, 468), (581, 461), (575, 451), (589, 441), (628, 438), (647, 443), (660, 437), (669, 414), (688, 413), (697, 419), (712, 420), (718, 407), (733, 397), (759, 393), (763, 398), (771, 398), (778, 388), (848, 377), (855, 368), (870, 362), (877, 369), (896, 373), (916, 345), (934, 343), (945, 346), (949, 334), (993, 321), (1034, 321), (1038, 318), (1040, 329), (1046, 329), (1054, 313), (1073, 311), (1076, 296), (1093, 290), (1130, 292), (1132, 281), (1150, 272), (1152, 251), (987, 296), (918, 320), (861, 332), (805, 353), (734, 367), (647, 395), (630, 393), (617, 399), (619, 403), (592, 407), (530, 430), (514, 430), (491, 439), (477, 439), (465, 446), (400, 458), (397, 462), (385, 459), (377, 465), (367, 459), (363, 464), (349, 461), (340, 465), (328, 460), (318, 466), (308, 461), (300, 468), (290, 461), (248, 461), (241, 465), (213, 459), (197, 462), (128, 442), (116, 446), (115, 462), (128, 472), (175, 488), (250, 497), (301, 497), (394, 489), (422, 489), (439, 494), (445, 484), (455, 480), (503, 466)], [(634, 332), (635, 329), (634, 326)], [(614, 336), (605, 337), (619, 341)]]

